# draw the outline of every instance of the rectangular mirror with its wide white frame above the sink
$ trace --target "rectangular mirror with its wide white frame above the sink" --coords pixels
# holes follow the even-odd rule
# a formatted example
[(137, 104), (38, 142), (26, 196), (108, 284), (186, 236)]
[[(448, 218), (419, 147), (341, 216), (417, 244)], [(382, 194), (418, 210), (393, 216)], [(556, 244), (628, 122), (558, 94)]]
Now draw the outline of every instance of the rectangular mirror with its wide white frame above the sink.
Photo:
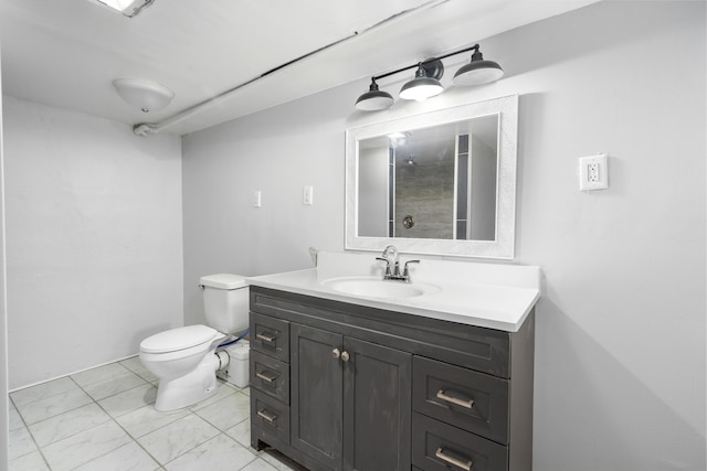
[(518, 96), (346, 131), (346, 248), (514, 257)]

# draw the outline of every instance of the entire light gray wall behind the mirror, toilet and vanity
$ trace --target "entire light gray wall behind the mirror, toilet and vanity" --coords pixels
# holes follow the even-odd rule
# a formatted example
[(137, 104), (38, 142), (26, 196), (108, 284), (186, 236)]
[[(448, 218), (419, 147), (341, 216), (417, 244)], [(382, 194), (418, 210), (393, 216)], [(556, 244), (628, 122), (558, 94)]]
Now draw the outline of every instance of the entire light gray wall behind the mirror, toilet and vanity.
[[(360, 81), (186, 137), (186, 322), (202, 320), (200, 275), (342, 249), (347, 127), (518, 93), (516, 261), (545, 274), (535, 469), (704, 470), (705, 13), (600, 2), (483, 40), (496, 84), (363, 115)], [(597, 152), (610, 189), (580, 193), (577, 158)]]

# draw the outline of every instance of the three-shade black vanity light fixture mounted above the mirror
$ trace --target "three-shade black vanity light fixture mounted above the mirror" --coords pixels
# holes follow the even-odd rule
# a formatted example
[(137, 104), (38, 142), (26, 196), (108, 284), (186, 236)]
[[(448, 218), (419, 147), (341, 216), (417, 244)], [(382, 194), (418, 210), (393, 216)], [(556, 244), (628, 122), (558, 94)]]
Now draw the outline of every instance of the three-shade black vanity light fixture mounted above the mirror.
[(444, 74), (442, 60), (463, 52), (474, 51), (472, 62), (464, 65), (454, 74), (453, 84), (455, 86), (483, 85), (503, 77), (504, 71), (500, 68), (500, 65), (493, 61), (484, 61), (484, 56), (478, 51), (478, 44), (474, 44), (471, 47), (444, 54), (440, 57), (430, 57), (423, 62), (371, 77), (370, 89), (358, 97), (355, 105), (356, 109), (361, 111), (380, 111), (390, 108), (394, 103), (393, 97), (380, 90), (376, 81), (414, 67), (418, 68), (415, 78), (402, 86), (400, 89), (400, 98), (423, 101), (441, 94), (444, 90), (444, 87), (440, 83)]

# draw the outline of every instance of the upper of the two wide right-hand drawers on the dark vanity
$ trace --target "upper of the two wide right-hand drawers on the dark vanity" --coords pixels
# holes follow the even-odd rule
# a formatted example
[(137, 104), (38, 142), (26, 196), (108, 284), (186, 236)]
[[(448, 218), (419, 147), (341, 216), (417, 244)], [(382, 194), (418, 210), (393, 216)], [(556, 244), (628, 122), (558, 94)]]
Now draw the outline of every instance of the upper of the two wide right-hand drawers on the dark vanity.
[(412, 408), (508, 443), (508, 379), (414, 356)]

